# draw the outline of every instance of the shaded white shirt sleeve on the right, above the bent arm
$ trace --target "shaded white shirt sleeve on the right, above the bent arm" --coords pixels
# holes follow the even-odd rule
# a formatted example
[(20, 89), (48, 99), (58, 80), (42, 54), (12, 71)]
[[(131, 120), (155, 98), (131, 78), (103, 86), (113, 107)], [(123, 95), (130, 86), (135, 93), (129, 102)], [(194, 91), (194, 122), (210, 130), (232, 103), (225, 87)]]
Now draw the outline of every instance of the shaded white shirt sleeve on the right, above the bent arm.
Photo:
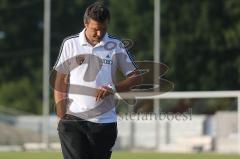
[(120, 51), (117, 53), (117, 57), (118, 68), (125, 76), (137, 69), (137, 65), (134, 62), (133, 56), (128, 52), (127, 49), (120, 49)]

